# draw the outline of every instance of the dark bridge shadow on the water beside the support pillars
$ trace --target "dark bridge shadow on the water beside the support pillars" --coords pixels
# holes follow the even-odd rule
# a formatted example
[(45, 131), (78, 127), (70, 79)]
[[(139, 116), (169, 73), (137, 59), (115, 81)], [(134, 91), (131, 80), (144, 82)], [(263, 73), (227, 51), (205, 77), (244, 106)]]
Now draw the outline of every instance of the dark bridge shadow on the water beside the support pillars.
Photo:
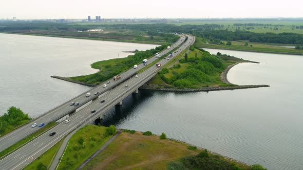
[[(154, 96), (153, 91), (139, 90), (138, 94), (131, 94), (122, 101), (122, 105), (116, 105), (103, 115), (102, 125), (117, 125), (130, 116), (138, 105)], [(96, 122), (98, 124), (98, 122)]]

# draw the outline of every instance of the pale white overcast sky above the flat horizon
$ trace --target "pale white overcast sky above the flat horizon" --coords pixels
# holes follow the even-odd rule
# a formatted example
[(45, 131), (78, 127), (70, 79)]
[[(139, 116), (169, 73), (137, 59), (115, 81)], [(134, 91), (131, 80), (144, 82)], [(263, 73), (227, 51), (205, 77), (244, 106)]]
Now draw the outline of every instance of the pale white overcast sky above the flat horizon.
[(303, 0), (1, 0), (0, 18), (303, 17)]

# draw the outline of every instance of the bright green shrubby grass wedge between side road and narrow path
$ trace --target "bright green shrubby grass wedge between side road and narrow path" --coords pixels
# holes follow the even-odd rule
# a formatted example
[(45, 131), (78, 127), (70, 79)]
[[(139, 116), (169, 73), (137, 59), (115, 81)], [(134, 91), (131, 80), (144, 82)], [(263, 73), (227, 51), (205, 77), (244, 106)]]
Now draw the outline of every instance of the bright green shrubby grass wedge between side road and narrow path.
[(91, 154), (96, 152), (112, 135), (106, 135), (108, 128), (86, 125), (70, 139), (58, 169), (75, 169)]

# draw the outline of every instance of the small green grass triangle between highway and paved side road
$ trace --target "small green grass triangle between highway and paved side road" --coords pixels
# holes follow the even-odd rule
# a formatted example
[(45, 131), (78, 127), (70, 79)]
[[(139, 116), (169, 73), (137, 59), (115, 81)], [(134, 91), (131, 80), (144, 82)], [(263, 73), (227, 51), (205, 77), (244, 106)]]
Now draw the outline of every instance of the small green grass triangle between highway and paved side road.
[(45, 167), (45, 169), (47, 169), (47, 167), (49, 167), (50, 164), (52, 163), (53, 157), (58, 152), (59, 147), (61, 145), (61, 141), (56, 143), (55, 145), (53, 145), (49, 150), (47, 150), (40, 157), (38, 157), (37, 159), (32, 161), (30, 164), (25, 166), (23, 169), (24, 170), (42, 169), (42, 167)]

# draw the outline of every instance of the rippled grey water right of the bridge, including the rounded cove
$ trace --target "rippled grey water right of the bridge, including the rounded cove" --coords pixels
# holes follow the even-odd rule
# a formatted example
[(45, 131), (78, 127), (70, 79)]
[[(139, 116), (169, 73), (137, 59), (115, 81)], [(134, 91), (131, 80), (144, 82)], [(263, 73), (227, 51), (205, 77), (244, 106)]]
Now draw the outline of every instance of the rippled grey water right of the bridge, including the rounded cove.
[(167, 137), (268, 169), (303, 169), (303, 57), (206, 49), (260, 62), (233, 67), (236, 84), (269, 88), (216, 92), (140, 91), (105, 115), (105, 125)]

